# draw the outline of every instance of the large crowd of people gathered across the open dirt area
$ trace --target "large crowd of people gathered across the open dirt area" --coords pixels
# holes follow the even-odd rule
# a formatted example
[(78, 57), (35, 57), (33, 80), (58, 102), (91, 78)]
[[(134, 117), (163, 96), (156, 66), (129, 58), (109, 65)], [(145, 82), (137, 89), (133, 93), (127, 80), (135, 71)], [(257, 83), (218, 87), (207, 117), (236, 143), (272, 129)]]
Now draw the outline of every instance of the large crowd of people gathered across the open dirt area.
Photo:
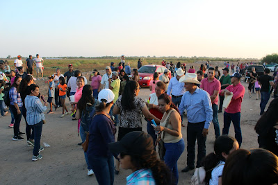
[[(33, 60), (30, 55), (26, 60), (27, 73), (20, 55), (15, 60), (15, 70), (0, 61), (1, 116), (8, 114), (4, 108), (8, 106), (13, 140), (24, 140), (22, 135), (26, 134), (28, 146), (34, 147), (33, 161), (42, 159), (40, 152), (44, 148), (40, 146), (40, 137), (46, 122), (44, 112), (49, 103), (47, 114), (53, 114), (62, 107), (61, 118), (72, 114), (72, 120), (78, 122), (82, 141), (79, 145), (83, 144), (88, 175), (95, 174), (99, 184), (113, 184), (114, 175), (120, 173), (120, 166), (132, 170), (126, 177), (126, 184), (178, 184), (178, 160), (185, 149), (187, 164), (181, 172), (187, 173), (196, 168), (193, 184), (278, 183), (277, 98), (265, 111), (271, 87), (277, 92), (278, 77), (269, 76), (269, 69), (265, 69), (263, 76), (257, 76), (255, 69), (250, 73), (249, 94), (252, 96), (254, 87), (258, 91), (256, 98), (261, 95), (261, 118), (255, 131), (259, 134), (259, 147), (263, 149), (248, 151), (239, 149), (243, 143), (240, 112), (245, 95), (245, 87), (240, 82), (239, 63), (231, 63), (230, 66), (227, 62), (221, 76), (218, 67), (212, 67), (209, 61), (201, 64), (198, 71), (194, 66), (186, 71), (186, 64), (178, 62), (174, 66), (172, 62), (163, 60), (161, 64), (167, 69), (164, 73), (154, 73), (147, 100), (138, 96), (140, 59), (137, 69), (131, 69), (124, 55), (118, 67), (111, 62), (103, 76), (93, 69), (88, 79), (90, 85), (87, 85), (87, 78), (81, 71), (74, 71), (69, 64), (64, 74), (57, 68), (56, 73), (47, 77), (48, 97), (45, 101), (40, 95), (40, 87), (35, 84), (35, 80), (40, 79), (39, 74), (44, 79), (43, 59), (38, 54), (36, 57)], [(37, 78), (32, 76), (35, 64)], [(67, 98), (70, 99), (70, 107), (65, 103)], [(218, 114), (223, 107), (221, 134)], [(183, 120), (185, 113), (187, 124)], [(147, 133), (142, 132), (142, 115), (147, 121)], [(22, 116), (26, 122), (26, 133), (19, 130)], [(234, 137), (228, 136), (231, 122)], [(214, 152), (206, 155), (206, 136), (211, 123), (215, 134)], [(181, 133), (181, 127), (185, 125), (186, 142)], [(159, 157), (156, 146), (159, 146)]]

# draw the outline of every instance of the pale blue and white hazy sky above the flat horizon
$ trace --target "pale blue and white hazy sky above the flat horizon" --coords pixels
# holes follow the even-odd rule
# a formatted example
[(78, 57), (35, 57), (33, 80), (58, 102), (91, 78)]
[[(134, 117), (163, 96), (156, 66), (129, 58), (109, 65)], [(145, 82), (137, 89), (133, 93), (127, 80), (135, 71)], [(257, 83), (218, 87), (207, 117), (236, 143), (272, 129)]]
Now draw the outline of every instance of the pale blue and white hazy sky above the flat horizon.
[(0, 58), (260, 59), (278, 53), (277, 6), (277, 0), (0, 0)]

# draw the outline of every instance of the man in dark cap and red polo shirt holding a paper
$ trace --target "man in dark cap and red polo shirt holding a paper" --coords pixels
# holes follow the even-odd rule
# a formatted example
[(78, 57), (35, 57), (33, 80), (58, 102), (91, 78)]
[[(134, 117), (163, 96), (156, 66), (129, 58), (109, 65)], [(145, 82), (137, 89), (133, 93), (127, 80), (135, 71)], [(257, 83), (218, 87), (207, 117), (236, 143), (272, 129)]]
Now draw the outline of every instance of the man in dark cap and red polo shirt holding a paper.
[(241, 102), (243, 101), (243, 96), (245, 93), (245, 88), (243, 85), (240, 84), (240, 73), (234, 73), (231, 76), (231, 84), (226, 89), (222, 89), (220, 91), (220, 95), (224, 96), (224, 94), (234, 94), (233, 98), (231, 98), (231, 103), (225, 109), (224, 112), (224, 127), (222, 130), (222, 134), (229, 134), (229, 127), (231, 125), (231, 121), (233, 121), (234, 129), (235, 129), (235, 137), (238, 141), (239, 146), (243, 142), (243, 137), (241, 135), (240, 129), (240, 109), (241, 109)]

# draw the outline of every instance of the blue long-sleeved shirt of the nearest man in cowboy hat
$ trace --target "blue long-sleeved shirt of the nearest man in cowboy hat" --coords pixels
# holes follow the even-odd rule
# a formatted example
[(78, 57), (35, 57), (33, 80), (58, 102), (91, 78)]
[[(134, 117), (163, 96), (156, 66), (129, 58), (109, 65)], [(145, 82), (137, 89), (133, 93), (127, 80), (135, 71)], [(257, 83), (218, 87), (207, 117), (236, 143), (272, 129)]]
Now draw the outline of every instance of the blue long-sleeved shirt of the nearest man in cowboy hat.
[(199, 123), (205, 121), (204, 128), (208, 129), (213, 120), (213, 109), (209, 94), (197, 87), (193, 94), (186, 91), (181, 98), (179, 112), (183, 114), (184, 109), (187, 111), (188, 122)]

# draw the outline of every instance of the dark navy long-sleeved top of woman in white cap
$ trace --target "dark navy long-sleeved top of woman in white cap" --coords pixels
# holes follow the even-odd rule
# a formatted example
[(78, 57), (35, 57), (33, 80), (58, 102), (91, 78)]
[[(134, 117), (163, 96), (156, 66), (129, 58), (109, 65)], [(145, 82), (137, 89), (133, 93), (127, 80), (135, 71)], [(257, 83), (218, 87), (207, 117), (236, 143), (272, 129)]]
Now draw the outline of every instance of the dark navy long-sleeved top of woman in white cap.
[(104, 114), (95, 115), (90, 123), (90, 136), (87, 155), (90, 158), (109, 157), (112, 155), (108, 150), (108, 143), (115, 142), (116, 128), (111, 119)]

